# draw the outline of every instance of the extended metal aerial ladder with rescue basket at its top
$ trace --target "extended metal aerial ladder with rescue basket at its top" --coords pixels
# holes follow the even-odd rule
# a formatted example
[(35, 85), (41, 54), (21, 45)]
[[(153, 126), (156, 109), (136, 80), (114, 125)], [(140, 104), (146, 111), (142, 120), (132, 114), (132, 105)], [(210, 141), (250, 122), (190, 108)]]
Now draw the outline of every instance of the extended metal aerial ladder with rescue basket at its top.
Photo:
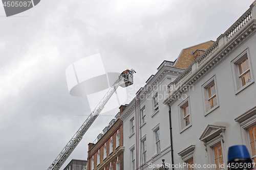
[(60, 167), (65, 163), (70, 154), (74, 151), (78, 143), (81, 141), (83, 135), (87, 132), (90, 126), (93, 124), (94, 120), (98, 117), (100, 112), (103, 110), (105, 104), (110, 100), (111, 96), (114, 94), (118, 86), (127, 87), (133, 84), (133, 73), (136, 73), (134, 69), (126, 69), (123, 71), (115, 83), (110, 87), (108, 92), (103, 96), (99, 104), (88, 116), (86, 121), (78, 129), (75, 135), (70, 139), (65, 148), (62, 149), (57, 158), (53, 161), (50, 167), (47, 170), (59, 170)]

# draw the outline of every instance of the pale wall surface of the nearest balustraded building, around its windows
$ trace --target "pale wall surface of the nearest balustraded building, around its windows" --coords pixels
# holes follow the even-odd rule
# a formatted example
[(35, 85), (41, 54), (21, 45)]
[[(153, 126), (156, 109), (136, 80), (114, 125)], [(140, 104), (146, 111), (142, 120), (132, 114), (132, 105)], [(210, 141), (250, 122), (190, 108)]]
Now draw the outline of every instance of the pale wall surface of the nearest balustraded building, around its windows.
[[(183, 100), (177, 100), (171, 106), (172, 110), (172, 124), (173, 124), (173, 142), (174, 142), (174, 163), (182, 163), (181, 156), (178, 153), (189, 145), (196, 145), (194, 154), (194, 163), (207, 164), (208, 153), (205, 151), (205, 146), (199, 137), (203, 133), (207, 125), (225, 126), (225, 142), (223, 145), (224, 157), (227, 156), (227, 150), (232, 145), (247, 144), (243, 143), (240, 124), (235, 122), (234, 118), (245, 113), (247, 110), (256, 106), (256, 84), (252, 83), (250, 86), (235, 94), (234, 80), (231, 69), (231, 60), (239, 56), (246, 48), (249, 49), (249, 60), (251, 62), (253, 72), (253, 79), (256, 75), (256, 35), (253, 35), (243, 44), (234, 49), (228, 57), (225, 58), (213, 70), (208, 72), (201, 80), (194, 84), (194, 90), (187, 91), (185, 94), (189, 96), (190, 114), (192, 126), (180, 133), (178, 105)], [(202, 85), (208, 81), (212, 76), (216, 76), (217, 97), (219, 100), (219, 108), (211, 113), (204, 115), (204, 96), (202, 92)], [(225, 158), (227, 160), (227, 157)], [(224, 162), (225, 165), (227, 162)], [(227, 168), (225, 168), (227, 169)]]

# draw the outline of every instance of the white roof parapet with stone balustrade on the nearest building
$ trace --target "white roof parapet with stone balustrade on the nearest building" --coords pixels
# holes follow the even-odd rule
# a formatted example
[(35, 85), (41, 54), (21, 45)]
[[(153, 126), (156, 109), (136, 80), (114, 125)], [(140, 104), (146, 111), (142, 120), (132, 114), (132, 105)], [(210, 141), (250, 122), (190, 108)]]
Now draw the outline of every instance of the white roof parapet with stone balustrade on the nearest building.
[[(254, 1), (253, 5), (251, 5), (250, 8), (236, 22), (234, 22), (224, 34), (221, 34), (200, 57), (192, 62), (175, 81), (168, 85), (169, 97), (164, 101), (164, 104), (170, 103), (169, 101), (174, 101), (178, 95), (175, 93), (182, 93), (184, 91), (183, 88), (189, 88), (189, 86), (197, 81), (211, 66), (215, 65), (220, 59), (226, 56), (227, 53), (229, 53), (237, 44), (239, 44), (251, 32), (253, 32), (253, 30), (256, 29), (256, 27), (253, 25), (253, 22), (256, 21), (255, 5), (256, 1)], [(248, 31), (242, 34), (245, 29), (248, 29)], [(238, 38), (238, 40), (234, 41), (234, 38)], [(216, 59), (216, 61), (212, 61), (212, 63), (209, 64), (209, 68), (206, 67), (204, 70), (202, 70), (197, 77), (193, 78), (195, 80), (190, 80), (191, 77), (195, 76), (196, 72), (208, 64), (210, 59), (216, 57), (217, 55), (219, 57)]]

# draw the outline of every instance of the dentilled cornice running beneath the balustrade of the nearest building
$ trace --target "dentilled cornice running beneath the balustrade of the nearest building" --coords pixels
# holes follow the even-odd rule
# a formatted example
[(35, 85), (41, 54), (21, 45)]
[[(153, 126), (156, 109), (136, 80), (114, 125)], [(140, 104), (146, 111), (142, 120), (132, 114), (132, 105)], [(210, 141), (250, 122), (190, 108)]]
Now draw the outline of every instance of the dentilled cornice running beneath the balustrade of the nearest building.
[[(203, 65), (201, 65), (194, 73), (190, 74), (182, 84), (175, 87), (175, 90), (168, 96), (168, 98), (163, 102), (165, 105), (172, 105), (179, 97), (188, 91), (194, 84), (196, 84), (202, 77), (204, 77), (208, 72), (210, 72), (215, 66), (217, 66), (221, 61), (223, 61), (234, 49), (238, 48), (247, 39), (256, 33), (256, 20), (252, 19), (250, 23), (245, 26), (244, 30), (238, 33), (235, 37), (227, 42), (221, 49), (218, 50), (214, 55), (210, 56)], [(214, 44), (213, 44), (214, 45)], [(207, 51), (206, 51), (207, 52)], [(204, 55), (204, 53), (202, 54)], [(194, 65), (197, 62), (194, 61)], [(193, 65), (193, 64), (191, 64)], [(193, 67), (193, 66), (191, 66)], [(187, 72), (191, 67), (188, 67), (185, 72)], [(173, 85), (171, 83), (170, 85)]]

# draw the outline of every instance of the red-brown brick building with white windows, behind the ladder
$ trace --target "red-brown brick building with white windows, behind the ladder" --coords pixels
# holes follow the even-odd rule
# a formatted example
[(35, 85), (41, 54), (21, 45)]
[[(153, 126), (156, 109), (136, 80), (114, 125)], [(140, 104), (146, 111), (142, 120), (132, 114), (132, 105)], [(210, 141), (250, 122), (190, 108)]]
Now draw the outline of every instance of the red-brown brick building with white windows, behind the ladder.
[(123, 170), (123, 122), (119, 113), (99, 134), (97, 142), (88, 145), (88, 170)]

